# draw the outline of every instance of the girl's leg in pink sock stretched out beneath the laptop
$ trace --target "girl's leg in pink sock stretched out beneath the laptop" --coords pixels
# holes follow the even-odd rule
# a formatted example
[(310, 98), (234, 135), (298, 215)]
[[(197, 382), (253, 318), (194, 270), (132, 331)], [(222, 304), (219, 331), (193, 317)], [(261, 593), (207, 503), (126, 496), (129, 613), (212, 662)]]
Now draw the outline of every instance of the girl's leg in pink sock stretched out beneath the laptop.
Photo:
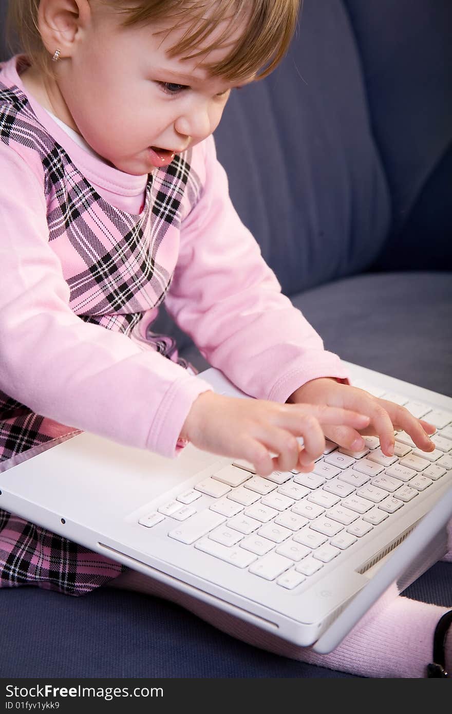
[[(371, 678), (423, 678), (432, 661), (433, 633), (448, 608), (419, 603), (389, 591), (336, 650), (318, 655), (181, 593), (169, 585), (127, 570), (109, 582), (110, 587), (138, 590), (171, 600), (228, 635), (263, 650), (301, 662)], [(452, 629), (452, 628), (451, 628)], [(452, 669), (452, 636), (446, 640), (446, 667)]]

